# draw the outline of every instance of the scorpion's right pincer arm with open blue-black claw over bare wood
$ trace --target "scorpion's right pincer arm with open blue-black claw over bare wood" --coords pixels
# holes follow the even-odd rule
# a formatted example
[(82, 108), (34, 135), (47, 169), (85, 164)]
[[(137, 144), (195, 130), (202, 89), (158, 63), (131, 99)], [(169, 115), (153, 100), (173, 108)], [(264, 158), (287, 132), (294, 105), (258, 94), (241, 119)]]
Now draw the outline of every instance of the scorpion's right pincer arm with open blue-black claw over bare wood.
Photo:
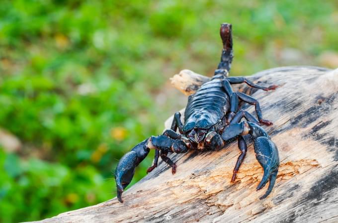
[(256, 190), (258, 191), (262, 189), (265, 184), (269, 182), (269, 186), (265, 194), (259, 198), (264, 199), (271, 193), (276, 181), (279, 166), (278, 149), (271, 141), (270, 136), (266, 133), (266, 131), (259, 125), (250, 121), (242, 121), (241, 123), (231, 124), (222, 133), (222, 139), (227, 141), (239, 135), (247, 134), (250, 134), (254, 139), (255, 156), (264, 170), (262, 180), (258, 184)]

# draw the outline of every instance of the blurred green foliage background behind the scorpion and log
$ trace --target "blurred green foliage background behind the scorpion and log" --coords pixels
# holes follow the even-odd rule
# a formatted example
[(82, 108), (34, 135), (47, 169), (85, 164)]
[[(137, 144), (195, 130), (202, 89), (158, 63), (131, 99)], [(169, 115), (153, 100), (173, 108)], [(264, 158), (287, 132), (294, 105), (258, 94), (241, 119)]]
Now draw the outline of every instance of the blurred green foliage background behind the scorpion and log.
[(213, 74), (222, 22), (232, 75), (338, 67), (336, 0), (1, 0), (0, 222), (114, 197), (118, 159), (184, 107), (169, 77)]

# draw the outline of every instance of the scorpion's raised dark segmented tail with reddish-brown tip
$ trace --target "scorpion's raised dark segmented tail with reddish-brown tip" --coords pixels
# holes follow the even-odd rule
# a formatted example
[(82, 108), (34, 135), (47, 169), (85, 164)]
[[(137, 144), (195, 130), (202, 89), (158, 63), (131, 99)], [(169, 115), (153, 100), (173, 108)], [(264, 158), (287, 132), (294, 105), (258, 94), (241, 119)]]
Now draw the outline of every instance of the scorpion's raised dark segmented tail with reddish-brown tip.
[(228, 77), (231, 68), (231, 62), (234, 58), (231, 24), (221, 24), (220, 35), (223, 42), (223, 50), (221, 62), (218, 64), (217, 70), (215, 70), (215, 75), (223, 74), (224, 76)]

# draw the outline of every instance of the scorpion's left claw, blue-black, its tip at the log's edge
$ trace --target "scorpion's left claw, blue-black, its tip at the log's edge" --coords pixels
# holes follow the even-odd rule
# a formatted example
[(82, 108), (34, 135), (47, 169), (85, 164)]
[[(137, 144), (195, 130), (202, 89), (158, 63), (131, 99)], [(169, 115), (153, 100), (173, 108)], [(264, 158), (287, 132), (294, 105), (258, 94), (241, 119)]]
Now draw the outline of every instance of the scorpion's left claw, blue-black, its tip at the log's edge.
[(126, 153), (118, 162), (115, 169), (115, 182), (117, 199), (123, 203), (123, 190), (130, 184), (135, 174), (135, 168), (139, 165), (149, 153), (147, 147), (148, 139), (137, 144), (130, 152)]

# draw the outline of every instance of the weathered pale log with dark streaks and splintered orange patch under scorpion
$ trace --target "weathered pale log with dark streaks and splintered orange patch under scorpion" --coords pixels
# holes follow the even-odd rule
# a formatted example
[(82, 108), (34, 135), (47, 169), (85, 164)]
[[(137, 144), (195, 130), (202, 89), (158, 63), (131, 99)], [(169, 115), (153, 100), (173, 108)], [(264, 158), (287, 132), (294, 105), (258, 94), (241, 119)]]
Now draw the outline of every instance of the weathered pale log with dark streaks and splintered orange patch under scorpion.
[[(189, 83), (185, 78), (180, 81)], [(263, 117), (274, 123), (265, 129), (278, 146), (281, 161), (275, 187), (266, 199), (258, 199), (266, 188), (255, 191), (263, 171), (252, 143), (237, 181), (230, 183), (239, 155), (234, 142), (220, 151), (170, 155), (177, 163), (176, 174), (161, 162), (123, 194), (123, 204), (114, 198), (42, 222), (337, 223), (338, 70), (284, 67), (250, 79), (280, 86), (253, 93)], [(189, 93), (195, 84), (186, 88)], [(254, 112), (253, 106), (244, 108)]]

